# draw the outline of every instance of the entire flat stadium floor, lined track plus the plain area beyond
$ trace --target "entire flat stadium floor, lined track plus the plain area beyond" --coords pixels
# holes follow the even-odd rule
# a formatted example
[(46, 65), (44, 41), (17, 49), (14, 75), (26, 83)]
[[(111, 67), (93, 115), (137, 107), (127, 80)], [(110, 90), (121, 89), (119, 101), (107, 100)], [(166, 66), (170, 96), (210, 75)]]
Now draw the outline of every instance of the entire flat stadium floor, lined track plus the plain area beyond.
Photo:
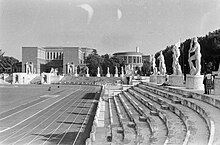
[(0, 86), (0, 144), (83, 144), (99, 90), (94, 86)]

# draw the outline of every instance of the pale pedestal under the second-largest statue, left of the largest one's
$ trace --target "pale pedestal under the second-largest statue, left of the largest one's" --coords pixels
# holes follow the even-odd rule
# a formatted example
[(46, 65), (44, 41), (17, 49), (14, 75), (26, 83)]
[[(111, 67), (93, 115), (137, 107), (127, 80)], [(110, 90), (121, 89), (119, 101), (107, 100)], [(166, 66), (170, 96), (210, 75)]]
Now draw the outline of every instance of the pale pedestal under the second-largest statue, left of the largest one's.
[(170, 75), (169, 76), (169, 85), (183, 87), (184, 76), (182, 75)]

